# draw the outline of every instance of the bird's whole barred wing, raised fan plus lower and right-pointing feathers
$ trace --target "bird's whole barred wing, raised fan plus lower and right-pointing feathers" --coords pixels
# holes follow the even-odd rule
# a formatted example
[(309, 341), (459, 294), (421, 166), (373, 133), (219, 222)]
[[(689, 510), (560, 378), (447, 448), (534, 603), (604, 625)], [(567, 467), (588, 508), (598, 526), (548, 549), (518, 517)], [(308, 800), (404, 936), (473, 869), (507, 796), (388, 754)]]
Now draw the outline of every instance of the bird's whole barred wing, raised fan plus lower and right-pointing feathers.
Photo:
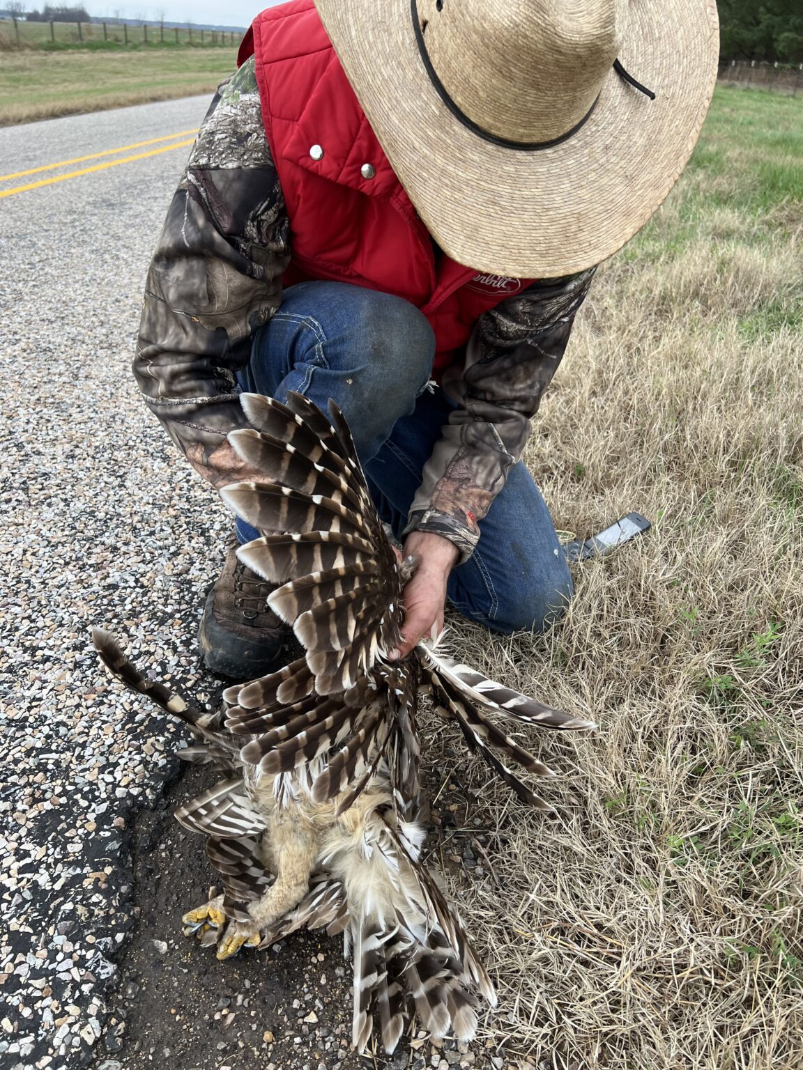
[(353, 800), (388, 750), (397, 809), (412, 820), (420, 791), (414, 691), (428, 678), (439, 708), (453, 715), (469, 749), (521, 801), (549, 809), (503, 759), (536, 776), (550, 770), (493, 718), (555, 729), (593, 722), (504, 688), (424, 644), (404, 662), (385, 661), (383, 655), (400, 643), (404, 578), (343, 414), (330, 401), (330, 421), (294, 393), (287, 404), (255, 394), (241, 395), (241, 402), (254, 426), (231, 432), (229, 441), (264, 478), (221, 493), (264, 533), (238, 555), (281, 584), (269, 605), (305, 648), (279, 673), (225, 693), (234, 706), (231, 731), (260, 734), (242, 756), (278, 773), (340, 746), (315, 797), (355, 784), (348, 796)]

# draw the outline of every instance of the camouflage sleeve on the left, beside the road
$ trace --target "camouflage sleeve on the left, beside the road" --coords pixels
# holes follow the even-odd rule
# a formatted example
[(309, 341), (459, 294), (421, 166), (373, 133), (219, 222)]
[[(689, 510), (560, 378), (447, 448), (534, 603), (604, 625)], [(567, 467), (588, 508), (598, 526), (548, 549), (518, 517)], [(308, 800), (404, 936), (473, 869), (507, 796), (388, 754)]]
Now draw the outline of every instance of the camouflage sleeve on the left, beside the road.
[(228, 482), (225, 437), (247, 424), (236, 372), (281, 303), (288, 260), (252, 58), (218, 88), (190, 154), (148, 272), (134, 357), (151, 411), (217, 485)]

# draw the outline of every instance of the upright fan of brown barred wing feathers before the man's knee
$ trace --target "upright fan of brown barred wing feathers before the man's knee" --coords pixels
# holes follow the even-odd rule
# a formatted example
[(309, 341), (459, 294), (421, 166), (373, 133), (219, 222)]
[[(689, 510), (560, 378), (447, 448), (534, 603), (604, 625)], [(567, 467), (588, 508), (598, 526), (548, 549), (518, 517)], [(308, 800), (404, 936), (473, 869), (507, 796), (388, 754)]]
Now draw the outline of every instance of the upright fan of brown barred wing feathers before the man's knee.
[(332, 423), (300, 394), (286, 406), (255, 394), (241, 403), (254, 429), (229, 442), (264, 479), (221, 495), (264, 534), (240, 560), (283, 584), (269, 605), (304, 646), (316, 692), (348, 692), (402, 641), (396, 555), (334, 403)]

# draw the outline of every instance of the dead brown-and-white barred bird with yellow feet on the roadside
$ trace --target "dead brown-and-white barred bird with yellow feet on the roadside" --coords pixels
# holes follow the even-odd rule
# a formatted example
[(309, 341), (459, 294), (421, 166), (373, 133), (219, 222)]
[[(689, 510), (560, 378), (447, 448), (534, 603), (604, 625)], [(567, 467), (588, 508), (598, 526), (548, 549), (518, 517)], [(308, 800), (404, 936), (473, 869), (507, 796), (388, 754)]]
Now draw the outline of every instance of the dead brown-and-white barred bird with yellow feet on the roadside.
[(226, 779), (176, 816), (207, 836), (225, 891), (184, 917), (216, 943), (268, 947), (302, 926), (343, 932), (353, 959), (353, 1043), (376, 1018), (392, 1052), (410, 1013), (434, 1037), (468, 1040), (479, 996), (496, 994), (454, 910), (420, 862), (425, 838), (416, 729), (422, 690), (459, 725), (519, 799), (548, 809), (505, 763), (550, 770), (493, 715), (551, 729), (570, 717), (488, 681), (424, 644), (402, 661), (402, 592), (414, 568), (385, 536), (339, 410), (328, 419), (291, 394), (287, 404), (241, 395), (252, 428), (233, 431), (239, 456), (263, 473), (222, 495), (263, 532), (240, 559), (282, 584), (269, 605), (292, 626), (304, 656), (224, 691), (201, 714), (143, 677), (111, 636), (95, 630), (104, 662), (123, 683), (180, 717), (196, 737), (179, 753)]

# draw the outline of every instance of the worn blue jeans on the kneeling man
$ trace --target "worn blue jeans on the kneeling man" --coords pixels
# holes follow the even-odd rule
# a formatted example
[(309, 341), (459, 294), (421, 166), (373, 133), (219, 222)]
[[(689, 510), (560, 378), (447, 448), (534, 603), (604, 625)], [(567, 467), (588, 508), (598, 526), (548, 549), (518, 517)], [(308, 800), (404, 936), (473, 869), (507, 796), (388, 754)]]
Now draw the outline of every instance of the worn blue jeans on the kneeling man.
[[(374, 501), (398, 535), (422, 470), (454, 408), (426, 385), (435, 337), (400, 297), (345, 282), (301, 282), (254, 337), (244, 391), (284, 401), (298, 391), (321, 409), (333, 398), (349, 422)], [(247, 542), (256, 529), (238, 519)], [(555, 524), (532, 476), (514, 464), (471, 557), (453, 569), (449, 599), (494, 631), (540, 631), (560, 616), (573, 586)]]

